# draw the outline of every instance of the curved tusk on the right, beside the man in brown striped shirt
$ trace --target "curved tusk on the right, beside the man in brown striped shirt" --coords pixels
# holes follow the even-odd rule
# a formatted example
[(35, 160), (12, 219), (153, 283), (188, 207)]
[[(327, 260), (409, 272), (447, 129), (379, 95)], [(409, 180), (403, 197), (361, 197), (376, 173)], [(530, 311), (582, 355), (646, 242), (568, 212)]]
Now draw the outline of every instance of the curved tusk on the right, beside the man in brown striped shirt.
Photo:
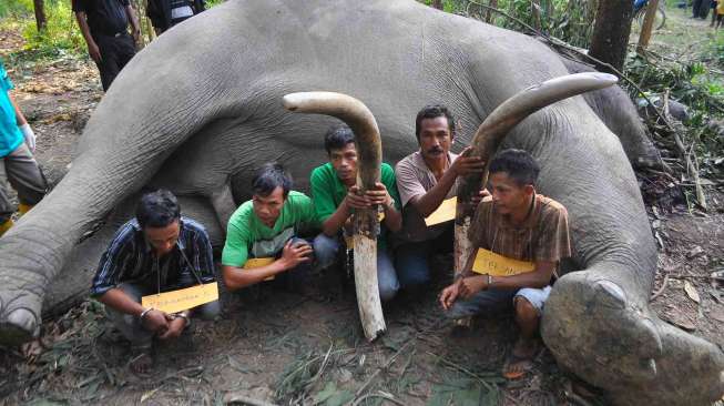
[(600, 72), (583, 72), (568, 74), (547, 80), (516, 93), (490, 113), (478, 126), (472, 138), (472, 149), (469, 155), (480, 156), (486, 162), (482, 173), (471, 174), (458, 183), (458, 203), (455, 217), (455, 272), (462, 272), (468, 256), (470, 243), (468, 229), (475, 213), (472, 197), (488, 183), (490, 160), (506, 135), (518, 123), (542, 108), (581, 93), (614, 85), (618, 78)]

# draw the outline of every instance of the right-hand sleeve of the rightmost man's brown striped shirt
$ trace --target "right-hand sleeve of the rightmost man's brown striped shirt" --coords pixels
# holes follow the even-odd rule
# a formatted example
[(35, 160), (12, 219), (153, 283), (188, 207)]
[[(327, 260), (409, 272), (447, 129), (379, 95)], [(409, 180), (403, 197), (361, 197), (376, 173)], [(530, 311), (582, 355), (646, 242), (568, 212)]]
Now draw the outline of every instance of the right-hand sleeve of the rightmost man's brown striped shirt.
[(534, 261), (559, 262), (570, 256), (568, 211), (562, 205), (547, 207), (539, 223)]

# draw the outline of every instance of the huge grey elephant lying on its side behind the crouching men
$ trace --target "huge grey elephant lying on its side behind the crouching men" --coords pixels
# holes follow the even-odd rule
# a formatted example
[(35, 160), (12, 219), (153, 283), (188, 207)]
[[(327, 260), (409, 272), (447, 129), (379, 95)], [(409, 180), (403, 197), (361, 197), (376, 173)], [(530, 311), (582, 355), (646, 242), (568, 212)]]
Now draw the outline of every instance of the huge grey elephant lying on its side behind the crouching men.
[[(44, 298), (58, 308), (71, 290), (90, 285), (94, 262), (143, 187), (183, 196), (184, 212), (206, 223), (217, 244), (261, 163), (283, 162), (306, 189), (335, 120), (286, 112), (286, 93), (359, 99), (394, 163), (417, 148), (414, 118), (422, 105), (441, 102), (456, 113), (460, 150), (502, 101), (565, 73), (534, 39), (411, 0), (213, 8), (126, 65), (88, 122), (68, 175), (0, 240), (0, 341), (29, 339)], [(638, 119), (631, 103), (608, 98), (591, 104), (595, 112), (582, 97), (548, 106), (503, 143), (538, 159), (539, 191), (570, 213), (574, 264), (555, 284), (541, 333), (563, 368), (615, 404), (707, 404), (724, 392), (724, 355), (649, 308), (656, 251), (626, 159), (645, 150), (645, 138), (640, 124), (620, 133), (624, 145), (639, 145), (624, 151), (604, 122), (615, 131), (618, 120)]]

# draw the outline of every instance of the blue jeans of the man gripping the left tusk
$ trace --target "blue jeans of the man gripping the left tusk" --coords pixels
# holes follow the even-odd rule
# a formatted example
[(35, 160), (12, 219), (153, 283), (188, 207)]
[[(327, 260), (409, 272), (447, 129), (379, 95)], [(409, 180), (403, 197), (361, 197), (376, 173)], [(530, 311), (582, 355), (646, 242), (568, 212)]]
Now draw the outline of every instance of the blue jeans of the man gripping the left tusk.
[[(317, 258), (317, 266), (324, 270), (334, 265), (340, 247), (341, 242), (339, 238), (319, 233), (314, 238), (314, 254)], [(389, 253), (384, 250), (377, 251), (377, 285), (379, 287), (379, 298), (383, 302), (395, 297), (400, 287), (395, 266), (392, 266), (392, 260), (389, 257)]]

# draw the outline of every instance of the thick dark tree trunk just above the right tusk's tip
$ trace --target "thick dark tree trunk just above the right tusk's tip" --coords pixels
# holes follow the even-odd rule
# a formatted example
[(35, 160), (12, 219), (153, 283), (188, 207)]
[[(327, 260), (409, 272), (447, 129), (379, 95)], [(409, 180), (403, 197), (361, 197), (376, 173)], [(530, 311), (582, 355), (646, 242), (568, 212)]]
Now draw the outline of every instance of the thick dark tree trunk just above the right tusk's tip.
[[(633, 1), (600, 1), (589, 54), (621, 71), (626, 59), (632, 18)], [(612, 72), (604, 64), (596, 68), (602, 72)]]

